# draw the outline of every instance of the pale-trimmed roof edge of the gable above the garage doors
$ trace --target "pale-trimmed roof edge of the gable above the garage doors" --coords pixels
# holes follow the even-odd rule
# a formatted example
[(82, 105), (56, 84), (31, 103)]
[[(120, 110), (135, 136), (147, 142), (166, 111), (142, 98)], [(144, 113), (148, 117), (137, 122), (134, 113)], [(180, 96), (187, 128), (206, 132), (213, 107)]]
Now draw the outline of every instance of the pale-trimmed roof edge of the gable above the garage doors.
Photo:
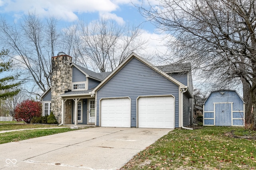
[(174, 84), (177, 84), (178, 86), (180, 86), (180, 88), (186, 88), (186, 86), (184, 84), (182, 84), (181, 82), (179, 82), (178, 80), (172, 78), (171, 76), (169, 76), (168, 74), (166, 74), (165, 72), (163, 72), (162, 70), (157, 68), (156, 66), (154, 66), (151, 63), (149, 63), (148, 61), (142, 59), (136, 53), (132, 53), (113, 72), (111, 72), (98, 86), (96, 86), (96, 88), (94, 88), (94, 90), (92, 90), (92, 94), (94, 94), (98, 89), (100, 89), (104, 84), (106, 84), (106, 82), (108, 82), (117, 72), (119, 72), (133, 58), (136, 58), (140, 62), (146, 64), (147, 66), (149, 66), (150, 68), (152, 68), (153, 70), (155, 70), (156, 72), (158, 72), (159, 74), (161, 74), (162, 76), (167, 78), (168, 80), (174, 82)]

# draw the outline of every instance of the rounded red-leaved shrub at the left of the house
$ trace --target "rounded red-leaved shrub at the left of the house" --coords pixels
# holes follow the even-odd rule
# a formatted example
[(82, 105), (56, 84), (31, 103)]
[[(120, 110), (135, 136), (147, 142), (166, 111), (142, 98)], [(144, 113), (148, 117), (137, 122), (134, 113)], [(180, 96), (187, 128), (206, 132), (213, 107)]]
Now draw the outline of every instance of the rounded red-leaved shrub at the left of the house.
[(34, 116), (39, 117), (42, 115), (42, 104), (30, 99), (24, 100), (15, 107), (14, 113), (16, 121), (30, 123)]

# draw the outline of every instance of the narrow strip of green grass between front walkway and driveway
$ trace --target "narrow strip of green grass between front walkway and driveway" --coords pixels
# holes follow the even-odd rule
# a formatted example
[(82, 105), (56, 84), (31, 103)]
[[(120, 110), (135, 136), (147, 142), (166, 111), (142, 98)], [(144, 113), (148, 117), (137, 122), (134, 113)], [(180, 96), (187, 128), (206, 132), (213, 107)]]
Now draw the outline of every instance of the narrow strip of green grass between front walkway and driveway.
[(24, 131), (14, 131), (0, 133), (0, 144), (21, 141), (25, 139), (31, 139), (35, 137), (42, 137), (47, 135), (53, 135), (56, 133), (63, 133), (68, 131), (74, 131), (76, 129), (67, 128), (58, 128), (58, 129), (34, 129), (34, 130), (24, 130)]

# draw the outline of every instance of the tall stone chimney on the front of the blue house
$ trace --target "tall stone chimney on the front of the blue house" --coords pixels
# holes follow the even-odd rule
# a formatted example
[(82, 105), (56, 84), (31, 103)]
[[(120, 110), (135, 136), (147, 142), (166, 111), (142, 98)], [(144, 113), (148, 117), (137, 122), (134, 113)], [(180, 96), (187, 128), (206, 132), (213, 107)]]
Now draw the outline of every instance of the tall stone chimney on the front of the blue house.
[(70, 90), (72, 86), (72, 57), (63, 52), (58, 53), (56, 57), (52, 57), (52, 112), (58, 123), (61, 122), (62, 100), (59, 96), (65, 91)]

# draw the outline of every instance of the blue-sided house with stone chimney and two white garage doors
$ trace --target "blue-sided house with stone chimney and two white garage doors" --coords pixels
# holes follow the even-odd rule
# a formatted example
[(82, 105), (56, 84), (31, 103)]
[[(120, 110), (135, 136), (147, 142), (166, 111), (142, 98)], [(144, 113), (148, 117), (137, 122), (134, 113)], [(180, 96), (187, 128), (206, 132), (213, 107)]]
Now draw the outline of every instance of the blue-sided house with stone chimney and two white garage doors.
[(59, 53), (52, 86), (40, 96), (43, 115), (62, 124), (178, 128), (193, 122), (190, 64), (153, 66), (132, 53), (113, 72), (96, 73)]

